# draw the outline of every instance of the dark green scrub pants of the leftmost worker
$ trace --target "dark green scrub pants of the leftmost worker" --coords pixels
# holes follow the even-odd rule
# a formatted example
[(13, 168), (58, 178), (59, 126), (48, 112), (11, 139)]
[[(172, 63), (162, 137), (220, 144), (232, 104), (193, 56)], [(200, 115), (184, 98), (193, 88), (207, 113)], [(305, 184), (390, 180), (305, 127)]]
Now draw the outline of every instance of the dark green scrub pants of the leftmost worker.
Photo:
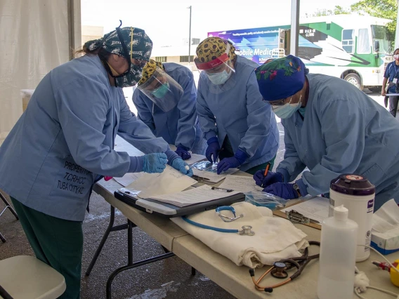
[(46, 215), (13, 199), (15, 211), (39, 260), (63, 274), (67, 289), (59, 298), (80, 298), (83, 231), (81, 221)]

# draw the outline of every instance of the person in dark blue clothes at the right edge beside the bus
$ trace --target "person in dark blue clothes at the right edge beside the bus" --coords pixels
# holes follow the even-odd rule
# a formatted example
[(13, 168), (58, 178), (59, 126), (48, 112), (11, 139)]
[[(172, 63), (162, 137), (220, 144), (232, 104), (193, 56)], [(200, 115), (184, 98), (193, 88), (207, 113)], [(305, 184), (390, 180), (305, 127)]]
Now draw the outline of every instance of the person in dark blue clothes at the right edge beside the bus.
[[(393, 62), (389, 62), (386, 66), (384, 73), (384, 81), (382, 81), (381, 95), (389, 96), (389, 93), (396, 93), (395, 87), (398, 84), (399, 79), (399, 48), (393, 52)], [(388, 83), (388, 90), (386, 84)], [(388, 93), (386, 93), (388, 91)], [(393, 117), (396, 117), (396, 111), (398, 110), (398, 96), (389, 97), (389, 113)]]

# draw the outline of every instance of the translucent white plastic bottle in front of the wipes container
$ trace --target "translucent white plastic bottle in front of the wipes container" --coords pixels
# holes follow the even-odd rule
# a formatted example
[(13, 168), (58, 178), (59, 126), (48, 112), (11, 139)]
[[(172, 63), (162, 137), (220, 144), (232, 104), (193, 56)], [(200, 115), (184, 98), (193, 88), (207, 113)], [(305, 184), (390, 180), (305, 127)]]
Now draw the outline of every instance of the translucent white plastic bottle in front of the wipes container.
[(334, 208), (322, 222), (320, 241), (319, 299), (351, 299), (355, 284), (358, 224), (348, 219), (348, 209)]

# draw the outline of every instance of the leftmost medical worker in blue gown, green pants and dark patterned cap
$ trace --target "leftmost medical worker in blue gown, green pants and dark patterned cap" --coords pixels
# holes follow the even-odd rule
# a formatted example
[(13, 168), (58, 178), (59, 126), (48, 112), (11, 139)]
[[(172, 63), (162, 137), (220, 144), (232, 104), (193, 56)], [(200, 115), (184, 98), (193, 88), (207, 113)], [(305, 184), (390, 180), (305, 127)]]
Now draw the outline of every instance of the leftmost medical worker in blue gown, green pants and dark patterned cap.
[[(0, 147), (0, 188), (10, 194), (37, 258), (65, 277), (60, 298), (79, 298), (81, 223), (94, 182), (103, 175), (161, 173), (166, 161), (192, 174), (124, 100), (122, 87), (140, 80), (151, 50), (147, 34), (132, 27), (88, 41), (86, 55), (41, 80)], [(114, 150), (117, 134), (146, 154)]]

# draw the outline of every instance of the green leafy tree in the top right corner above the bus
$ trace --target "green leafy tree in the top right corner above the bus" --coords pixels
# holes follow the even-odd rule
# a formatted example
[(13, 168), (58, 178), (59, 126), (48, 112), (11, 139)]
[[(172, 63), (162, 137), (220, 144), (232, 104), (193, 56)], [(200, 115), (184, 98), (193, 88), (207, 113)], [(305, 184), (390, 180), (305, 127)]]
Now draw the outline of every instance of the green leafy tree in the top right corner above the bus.
[(360, 15), (371, 15), (372, 17), (386, 18), (392, 20), (388, 23), (388, 32), (391, 40), (395, 38), (396, 16), (398, 13), (397, 0), (362, 0), (351, 5), (351, 11)]

